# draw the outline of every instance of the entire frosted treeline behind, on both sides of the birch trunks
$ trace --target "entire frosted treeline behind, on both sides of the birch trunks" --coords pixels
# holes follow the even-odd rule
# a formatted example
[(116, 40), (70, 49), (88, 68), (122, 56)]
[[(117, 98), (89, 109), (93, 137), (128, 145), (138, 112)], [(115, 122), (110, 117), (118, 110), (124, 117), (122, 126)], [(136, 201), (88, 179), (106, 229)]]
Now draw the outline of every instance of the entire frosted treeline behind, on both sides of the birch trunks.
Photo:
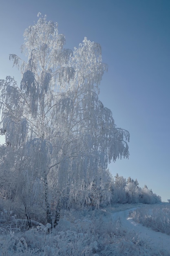
[[(1, 146), (0, 148), (6, 147)], [(2, 163), (1, 167), (3, 167)], [(29, 187), (25, 186), (23, 192), (22, 186), (24, 186), (27, 176), (22, 175), (21, 177), (20, 173), (11, 171), (7, 167), (5, 165), (4, 168), (0, 169), (0, 210), (12, 210), (18, 218), (27, 218), (30, 228), (32, 226), (31, 220), (46, 223), (44, 218), (45, 205), (40, 204), (43, 202), (45, 192), (41, 189), (40, 184), (36, 183), (32, 190), (32, 181), (30, 180)], [(52, 213), (54, 211), (58, 213), (58, 215), (53, 213), (53, 216), (58, 218), (57, 222), (60, 218), (59, 210), (62, 209), (83, 209), (84, 207), (97, 209), (116, 203), (155, 204), (161, 202), (159, 195), (153, 193), (146, 185), (144, 188), (139, 187), (138, 181), (131, 177), (127, 180), (118, 174), (113, 177), (109, 170), (100, 170), (99, 174), (89, 182), (82, 180), (79, 183), (76, 181), (67, 183), (67, 193), (64, 186), (61, 191), (54, 191), (53, 186), (49, 186), (49, 197), (55, 198), (55, 201), (53, 200), (49, 206)]]

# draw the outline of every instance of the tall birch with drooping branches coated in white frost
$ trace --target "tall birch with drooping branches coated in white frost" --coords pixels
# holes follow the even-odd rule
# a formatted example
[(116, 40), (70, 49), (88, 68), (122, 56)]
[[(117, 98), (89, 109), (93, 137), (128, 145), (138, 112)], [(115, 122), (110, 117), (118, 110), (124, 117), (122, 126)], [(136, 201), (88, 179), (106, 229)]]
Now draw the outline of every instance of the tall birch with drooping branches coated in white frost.
[(87, 190), (99, 191), (108, 163), (129, 155), (128, 131), (116, 127), (98, 99), (107, 69), (100, 45), (84, 38), (72, 51), (64, 43), (57, 23), (40, 15), (24, 31), (28, 61), (10, 54), (20, 85), (10, 76), (0, 80), (1, 134), (14, 154), (8, 170), (21, 180), (13, 196), (22, 199), (28, 220), (41, 205), (51, 226), (62, 204), (90, 205), (95, 195)]

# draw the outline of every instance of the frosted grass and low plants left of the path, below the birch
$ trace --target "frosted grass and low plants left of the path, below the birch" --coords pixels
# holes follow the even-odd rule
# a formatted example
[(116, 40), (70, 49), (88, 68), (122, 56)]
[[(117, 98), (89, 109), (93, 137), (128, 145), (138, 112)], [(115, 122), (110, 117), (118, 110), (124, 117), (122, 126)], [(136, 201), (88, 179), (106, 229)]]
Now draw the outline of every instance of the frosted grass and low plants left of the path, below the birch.
[[(123, 208), (130, 207), (129, 204)], [(122, 209), (123, 209), (122, 208)], [(150, 247), (135, 231), (122, 226), (113, 212), (119, 207), (90, 211), (61, 211), (58, 225), (47, 234), (50, 224), (27, 231), (5, 231), (0, 235), (3, 256), (168, 256)]]

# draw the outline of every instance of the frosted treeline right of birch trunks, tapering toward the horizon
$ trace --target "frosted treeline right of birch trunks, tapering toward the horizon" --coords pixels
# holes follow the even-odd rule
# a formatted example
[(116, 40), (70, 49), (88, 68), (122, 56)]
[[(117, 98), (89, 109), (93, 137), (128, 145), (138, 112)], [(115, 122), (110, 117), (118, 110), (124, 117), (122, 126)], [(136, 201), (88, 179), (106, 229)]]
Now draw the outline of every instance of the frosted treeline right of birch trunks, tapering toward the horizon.
[(101, 171), (101, 176), (91, 182), (72, 184), (70, 193), (62, 198), (61, 204), (66, 208), (80, 209), (83, 207), (99, 208), (108, 204), (144, 203), (156, 204), (161, 202), (161, 197), (148, 189), (145, 185), (139, 186), (131, 177), (124, 178), (116, 174), (113, 177), (109, 170)]

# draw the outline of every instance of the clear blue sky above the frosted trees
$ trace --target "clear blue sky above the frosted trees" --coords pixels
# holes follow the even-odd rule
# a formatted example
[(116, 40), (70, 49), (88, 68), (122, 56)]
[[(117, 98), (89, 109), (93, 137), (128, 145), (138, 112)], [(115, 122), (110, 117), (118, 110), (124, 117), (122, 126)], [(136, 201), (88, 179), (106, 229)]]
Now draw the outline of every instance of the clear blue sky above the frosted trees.
[(58, 22), (67, 48), (84, 36), (102, 45), (108, 72), (99, 99), (130, 132), (129, 159), (110, 171), (170, 199), (170, 0), (1, 0), (0, 10), (0, 79), (20, 80), (9, 54), (21, 56), (38, 12)]

